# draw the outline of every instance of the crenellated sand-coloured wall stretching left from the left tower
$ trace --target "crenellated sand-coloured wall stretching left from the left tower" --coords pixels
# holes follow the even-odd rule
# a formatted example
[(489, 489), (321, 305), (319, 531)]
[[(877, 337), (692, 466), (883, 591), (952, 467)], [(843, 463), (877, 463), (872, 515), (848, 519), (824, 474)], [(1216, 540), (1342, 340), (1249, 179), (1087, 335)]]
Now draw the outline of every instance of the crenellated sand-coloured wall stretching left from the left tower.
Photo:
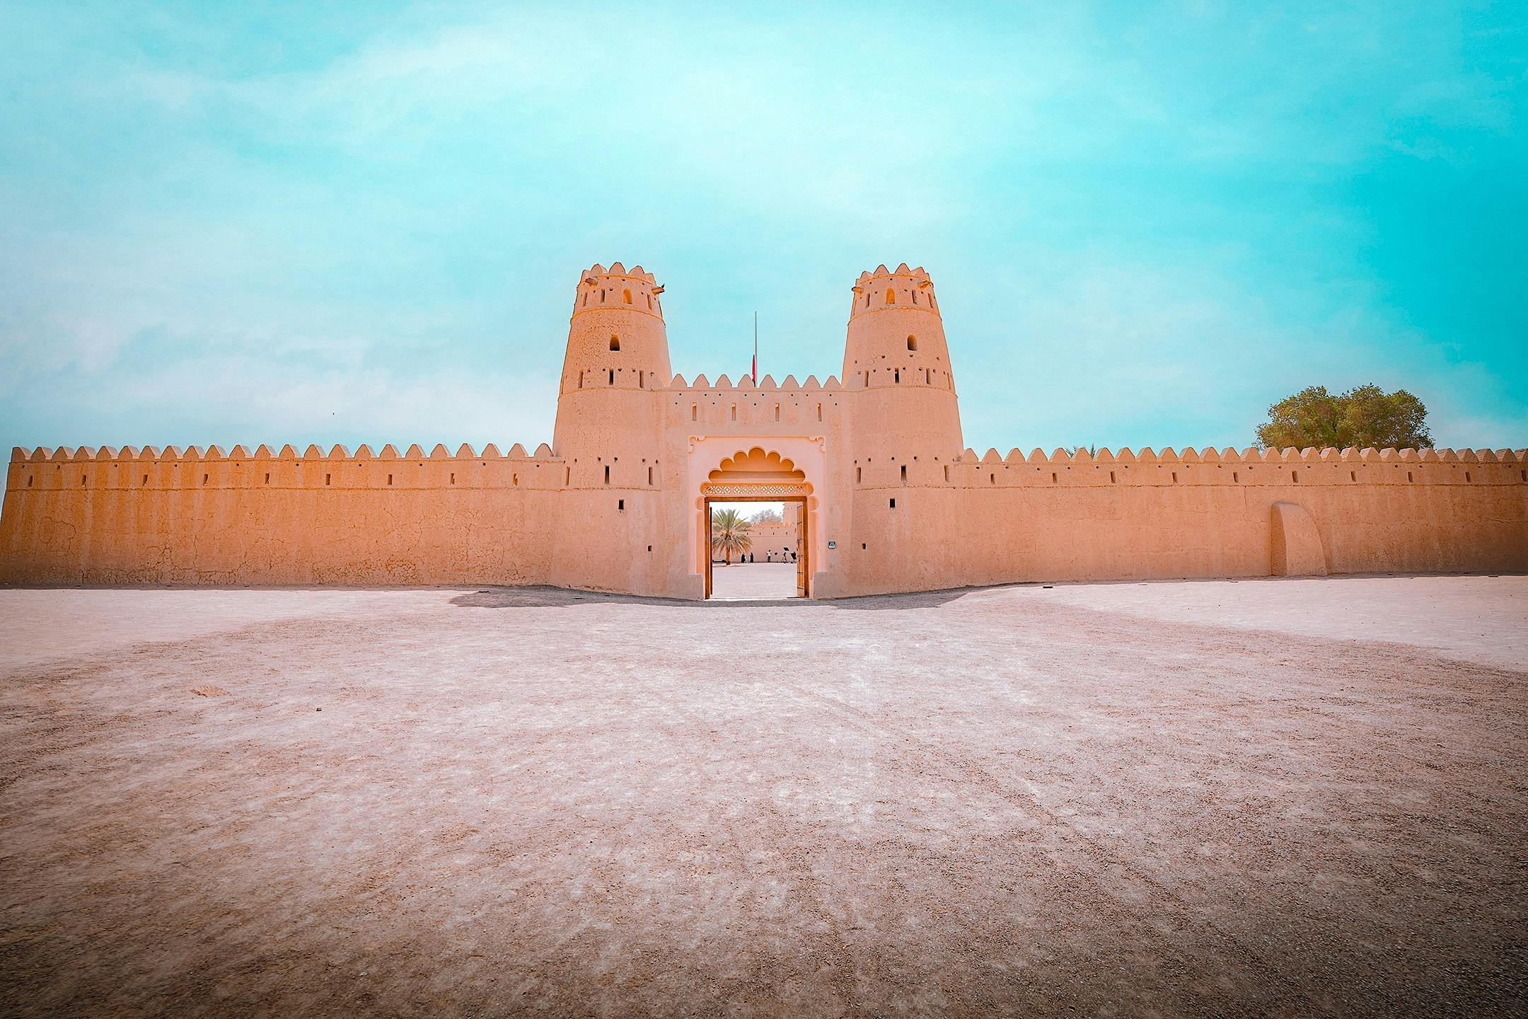
[(545, 446), (12, 451), (8, 584), (544, 584)]

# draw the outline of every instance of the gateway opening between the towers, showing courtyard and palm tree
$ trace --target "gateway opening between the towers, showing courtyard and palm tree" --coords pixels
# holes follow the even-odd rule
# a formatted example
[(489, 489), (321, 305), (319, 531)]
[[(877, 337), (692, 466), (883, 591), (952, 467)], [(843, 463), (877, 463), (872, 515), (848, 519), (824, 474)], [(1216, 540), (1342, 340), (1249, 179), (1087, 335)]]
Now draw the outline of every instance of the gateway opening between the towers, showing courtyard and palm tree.
[(807, 597), (805, 497), (707, 498), (706, 519), (707, 599)]

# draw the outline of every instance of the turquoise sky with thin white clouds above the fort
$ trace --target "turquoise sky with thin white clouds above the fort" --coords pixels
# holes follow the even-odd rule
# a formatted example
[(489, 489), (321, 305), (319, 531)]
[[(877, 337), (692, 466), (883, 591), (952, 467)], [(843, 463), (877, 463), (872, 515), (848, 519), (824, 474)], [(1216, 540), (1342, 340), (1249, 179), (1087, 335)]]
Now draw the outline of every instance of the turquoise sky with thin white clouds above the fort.
[(1528, 446), (1528, 6), (0, 6), (0, 445), (533, 448), (620, 260), (686, 377), (927, 267), (978, 451)]

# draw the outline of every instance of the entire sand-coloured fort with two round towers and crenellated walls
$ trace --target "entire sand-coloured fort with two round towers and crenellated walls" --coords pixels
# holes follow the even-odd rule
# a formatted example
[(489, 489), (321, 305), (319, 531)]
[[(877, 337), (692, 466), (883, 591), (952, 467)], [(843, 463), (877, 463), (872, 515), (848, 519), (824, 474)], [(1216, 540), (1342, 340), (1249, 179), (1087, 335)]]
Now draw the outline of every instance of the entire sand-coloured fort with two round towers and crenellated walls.
[[(799, 593), (1528, 570), (1528, 451), (978, 455), (934, 283), (854, 281), (840, 377), (686, 382), (642, 267), (579, 278), (552, 445), (14, 449), (9, 585), (529, 585), (701, 599), (712, 501)], [(772, 538), (779, 538), (772, 533)]]

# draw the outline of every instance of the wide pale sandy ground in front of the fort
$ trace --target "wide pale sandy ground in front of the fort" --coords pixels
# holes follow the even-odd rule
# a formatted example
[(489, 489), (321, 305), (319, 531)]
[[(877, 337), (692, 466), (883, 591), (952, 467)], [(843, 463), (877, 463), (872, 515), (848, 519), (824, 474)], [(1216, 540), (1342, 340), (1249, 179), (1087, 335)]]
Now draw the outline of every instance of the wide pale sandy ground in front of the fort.
[(1528, 577), (0, 619), (3, 1014), (1528, 1004)]

